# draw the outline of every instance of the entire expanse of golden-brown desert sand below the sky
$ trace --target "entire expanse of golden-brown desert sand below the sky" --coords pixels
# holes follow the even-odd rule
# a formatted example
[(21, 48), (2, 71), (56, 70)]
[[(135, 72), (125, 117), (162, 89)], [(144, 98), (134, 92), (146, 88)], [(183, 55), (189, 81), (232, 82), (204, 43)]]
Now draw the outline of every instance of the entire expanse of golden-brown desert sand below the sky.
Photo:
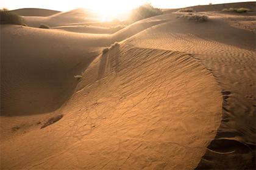
[(255, 13), (200, 8), (1, 25), (1, 169), (254, 169)]

